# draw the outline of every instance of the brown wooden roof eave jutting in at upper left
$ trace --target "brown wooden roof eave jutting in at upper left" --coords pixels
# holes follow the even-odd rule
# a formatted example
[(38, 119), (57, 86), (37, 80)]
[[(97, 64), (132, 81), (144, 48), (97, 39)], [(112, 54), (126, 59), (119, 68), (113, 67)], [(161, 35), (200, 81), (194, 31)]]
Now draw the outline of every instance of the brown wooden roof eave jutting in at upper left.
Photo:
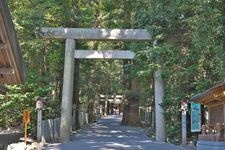
[(0, 0), (0, 91), (3, 84), (23, 83), (26, 78), (22, 53), (6, 0)]

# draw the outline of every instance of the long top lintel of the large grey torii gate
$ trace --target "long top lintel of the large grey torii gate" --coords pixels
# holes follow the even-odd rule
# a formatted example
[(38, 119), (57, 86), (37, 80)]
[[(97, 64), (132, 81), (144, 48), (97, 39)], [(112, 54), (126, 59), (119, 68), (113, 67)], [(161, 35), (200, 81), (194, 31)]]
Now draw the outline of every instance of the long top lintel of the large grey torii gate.
[(146, 29), (91, 29), (91, 28), (37, 28), (36, 34), (43, 38), (79, 40), (128, 40), (147, 41), (151, 39)]

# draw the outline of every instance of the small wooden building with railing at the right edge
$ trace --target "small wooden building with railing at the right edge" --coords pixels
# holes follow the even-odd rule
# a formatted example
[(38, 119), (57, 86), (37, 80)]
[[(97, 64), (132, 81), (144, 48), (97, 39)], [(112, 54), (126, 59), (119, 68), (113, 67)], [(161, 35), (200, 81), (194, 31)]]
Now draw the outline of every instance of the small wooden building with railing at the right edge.
[(225, 83), (204, 91), (192, 101), (208, 108), (208, 121), (198, 136), (198, 149), (225, 149)]

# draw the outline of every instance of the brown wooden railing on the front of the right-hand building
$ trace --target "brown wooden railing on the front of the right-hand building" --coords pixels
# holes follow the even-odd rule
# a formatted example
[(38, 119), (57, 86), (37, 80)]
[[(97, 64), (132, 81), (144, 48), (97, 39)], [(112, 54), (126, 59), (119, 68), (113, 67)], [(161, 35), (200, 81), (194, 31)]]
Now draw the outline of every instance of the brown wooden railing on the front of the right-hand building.
[(199, 140), (202, 141), (225, 141), (224, 137), (225, 126), (221, 123), (215, 125), (202, 125), (202, 134), (199, 135)]

